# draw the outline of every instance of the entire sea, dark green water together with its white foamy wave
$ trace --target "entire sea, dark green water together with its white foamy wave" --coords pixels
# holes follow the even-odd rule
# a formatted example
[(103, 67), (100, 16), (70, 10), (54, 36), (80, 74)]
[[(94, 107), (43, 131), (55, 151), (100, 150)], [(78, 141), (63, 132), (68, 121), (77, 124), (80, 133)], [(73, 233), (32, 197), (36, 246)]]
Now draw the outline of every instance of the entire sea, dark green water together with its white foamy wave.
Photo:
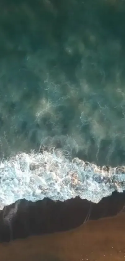
[(124, 190), (124, 23), (122, 0), (0, 3), (1, 208)]

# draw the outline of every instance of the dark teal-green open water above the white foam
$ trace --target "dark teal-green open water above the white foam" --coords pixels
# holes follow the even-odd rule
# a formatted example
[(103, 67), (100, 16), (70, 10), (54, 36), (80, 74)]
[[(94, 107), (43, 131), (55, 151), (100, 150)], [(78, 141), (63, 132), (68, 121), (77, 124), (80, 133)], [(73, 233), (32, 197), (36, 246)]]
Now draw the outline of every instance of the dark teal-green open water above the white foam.
[(124, 24), (124, 1), (1, 2), (1, 160), (43, 144), (125, 164)]

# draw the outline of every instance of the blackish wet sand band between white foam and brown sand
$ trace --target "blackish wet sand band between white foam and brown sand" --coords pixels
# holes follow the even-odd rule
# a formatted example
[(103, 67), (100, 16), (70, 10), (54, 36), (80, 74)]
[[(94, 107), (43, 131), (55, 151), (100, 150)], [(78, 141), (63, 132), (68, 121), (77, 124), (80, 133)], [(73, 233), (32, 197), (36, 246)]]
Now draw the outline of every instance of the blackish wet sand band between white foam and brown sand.
[(125, 193), (118, 192), (103, 198), (98, 204), (81, 198), (65, 202), (48, 198), (38, 202), (23, 199), (18, 205), (16, 202), (0, 212), (0, 242), (69, 231), (87, 223), (87, 220), (115, 216), (122, 212), (124, 205)]

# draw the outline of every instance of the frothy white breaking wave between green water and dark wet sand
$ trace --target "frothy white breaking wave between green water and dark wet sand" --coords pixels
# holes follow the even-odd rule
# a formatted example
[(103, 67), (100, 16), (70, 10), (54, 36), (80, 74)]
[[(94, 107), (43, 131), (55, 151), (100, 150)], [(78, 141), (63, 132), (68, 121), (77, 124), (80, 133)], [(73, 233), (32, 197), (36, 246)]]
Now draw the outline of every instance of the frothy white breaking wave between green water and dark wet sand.
[(0, 164), (0, 209), (19, 199), (54, 201), (79, 196), (93, 203), (125, 190), (125, 167), (98, 167), (56, 148), (20, 152)]

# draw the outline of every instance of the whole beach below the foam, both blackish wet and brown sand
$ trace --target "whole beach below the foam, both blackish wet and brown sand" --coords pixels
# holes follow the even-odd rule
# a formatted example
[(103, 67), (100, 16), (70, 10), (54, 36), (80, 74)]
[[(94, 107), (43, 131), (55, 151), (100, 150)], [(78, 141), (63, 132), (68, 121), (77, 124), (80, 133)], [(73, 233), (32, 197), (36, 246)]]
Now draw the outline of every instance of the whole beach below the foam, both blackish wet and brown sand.
[(125, 193), (117, 192), (98, 204), (80, 198), (64, 203), (22, 200), (11, 220), (15, 240), (5, 242), (10, 227), (0, 212), (0, 261), (125, 260), (124, 206)]

